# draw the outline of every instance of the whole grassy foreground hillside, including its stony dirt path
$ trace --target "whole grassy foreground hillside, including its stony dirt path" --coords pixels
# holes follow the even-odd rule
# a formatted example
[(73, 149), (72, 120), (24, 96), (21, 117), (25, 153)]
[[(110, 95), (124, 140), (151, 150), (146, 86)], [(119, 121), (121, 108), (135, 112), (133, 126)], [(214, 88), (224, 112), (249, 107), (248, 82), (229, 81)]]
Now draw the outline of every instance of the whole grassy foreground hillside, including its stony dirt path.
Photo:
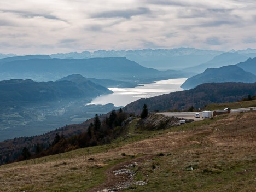
[(106, 146), (0, 166), (0, 189), (256, 191), (256, 112), (160, 131), (135, 124)]

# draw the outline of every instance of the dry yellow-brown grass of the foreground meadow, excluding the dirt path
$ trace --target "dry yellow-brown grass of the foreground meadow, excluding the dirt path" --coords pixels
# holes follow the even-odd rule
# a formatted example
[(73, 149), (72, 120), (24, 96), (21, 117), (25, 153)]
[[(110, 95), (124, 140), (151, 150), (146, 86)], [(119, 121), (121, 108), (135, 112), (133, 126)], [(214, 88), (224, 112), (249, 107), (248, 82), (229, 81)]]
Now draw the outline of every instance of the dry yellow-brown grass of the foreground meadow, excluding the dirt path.
[[(28, 165), (20, 162), (0, 166), (0, 191), (86, 191), (103, 181), (102, 173), (106, 168), (128, 159), (121, 153), (170, 154), (139, 165), (137, 173), (148, 185), (136, 187), (134, 191), (158, 191), (159, 186), (164, 189), (162, 191), (253, 191), (255, 188), (251, 182), (253, 177), (254, 180), (256, 178), (256, 113), (229, 114), (225, 118), (212, 120), (210, 124), (192, 127), (183, 129), (180, 126), (173, 129), (175, 131), (166, 130), (165, 134), (92, 155), (86, 154), (86, 149), (79, 149), (79, 155), (73, 158), (68, 157), (75, 152), (69, 152), (62, 154), (59, 160), (55, 156), (55, 160), (46, 162), (36, 159), (36, 164), (30, 160)], [(88, 161), (89, 158), (96, 161)], [(159, 164), (154, 171), (150, 171), (152, 162)], [(194, 171), (185, 171), (186, 167), (194, 165)], [(229, 169), (236, 175), (239, 167), (251, 170), (246, 186), (241, 185), (241, 188), (234, 182), (241, 184), (242, 181), (226, 176)], [(225, 180), (225, 177), (228, 179)], [(244, 179), (245, 176), (241, 173), (240, 177)], [(212, 179), (216, 179), (214, 186)], [(182, 182), (187, 183), (188, 188), (184, 188)]]

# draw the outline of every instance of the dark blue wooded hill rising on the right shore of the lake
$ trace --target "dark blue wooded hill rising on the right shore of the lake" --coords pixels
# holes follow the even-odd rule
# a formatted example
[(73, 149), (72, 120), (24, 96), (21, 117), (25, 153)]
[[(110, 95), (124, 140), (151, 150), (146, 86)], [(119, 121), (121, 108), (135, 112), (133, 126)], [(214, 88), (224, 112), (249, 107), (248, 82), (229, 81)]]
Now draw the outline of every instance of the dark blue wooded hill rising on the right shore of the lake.
[(256, 82), (256, 76), (246, 72), (236, 65), (229, 65), (220, 68), (208, 68), (203, 73), (188, 78), (182, 85), (183, 89), (195, 88), (203, 83), (221, 82)]

